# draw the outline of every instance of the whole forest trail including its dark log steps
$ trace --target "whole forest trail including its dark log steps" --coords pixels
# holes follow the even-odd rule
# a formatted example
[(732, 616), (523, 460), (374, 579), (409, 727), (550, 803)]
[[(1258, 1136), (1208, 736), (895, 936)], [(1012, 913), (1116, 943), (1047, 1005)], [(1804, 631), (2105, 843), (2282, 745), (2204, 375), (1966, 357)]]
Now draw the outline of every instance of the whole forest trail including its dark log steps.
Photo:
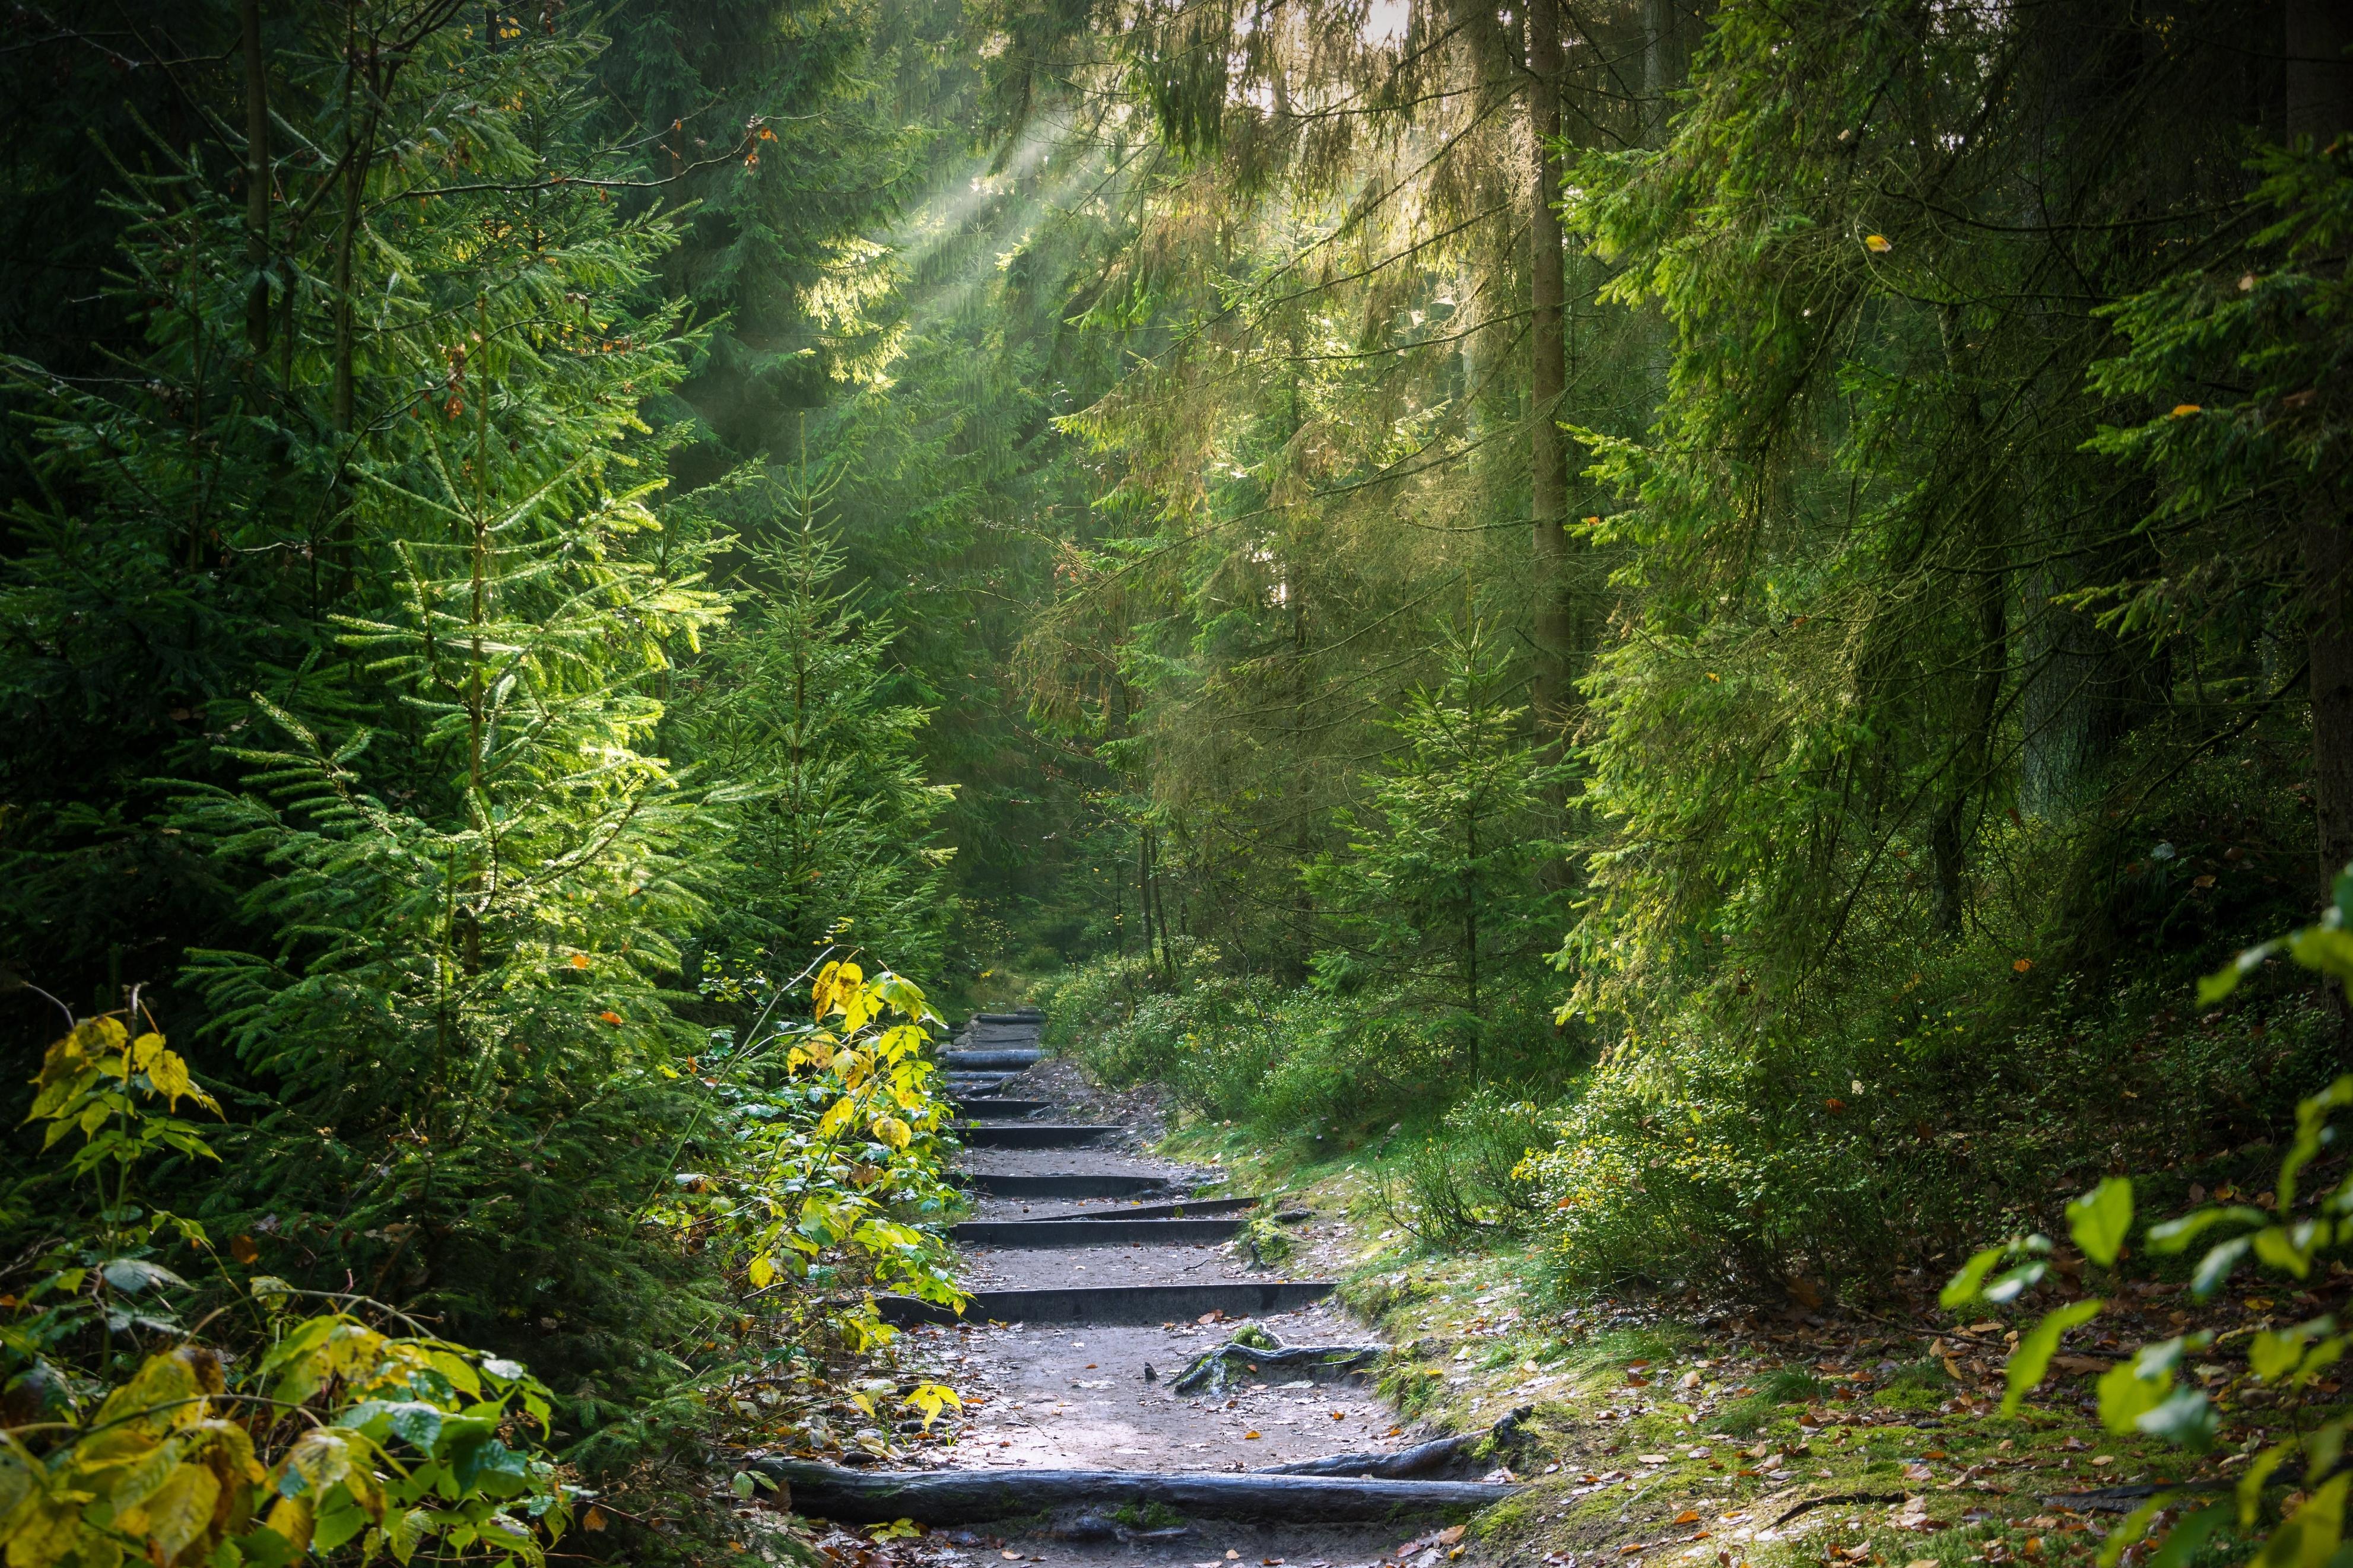
[[(984, 1013), (946, 1053), (967, 1117), (972, 1213), (953, 1229), (965, 1316), (882, 1302), (908, 1333), (901, 1373), (962, 1394), (962, 1434), (920, 1472), (769, 1462), (793, 1509), (859, 1526), (915, 1516), (929, 1533), (899, 1554), (936, 1563), (1475, 1561), (1449, 1523), (1508, 1483), (1475, 1481), (1431, 1450), (1438, 1434), (1400, 1425), (1374, 1387), (1388, 1347), (1332, 1300), (1334, 1281), (1257, 1267), (1254, 1197), (1151, 1154), (1148, 1103), (1115, 1105), (1120, 1119), (1073, 1105), (1092, 1095), (1042, 1056), (1040, 1030), (1033, 1013)], [(1311, 1239), (1313, 1218), (1275, 1222)], [(1299, 1265), (1313, 1269), (1315, 1251)], [(1184, 1378), (1238, 1333), (1282, 1349), (1233, 1347), (1224, 1375)], [(1341, 1474), (1268, 1474), (1339, 1455)]]

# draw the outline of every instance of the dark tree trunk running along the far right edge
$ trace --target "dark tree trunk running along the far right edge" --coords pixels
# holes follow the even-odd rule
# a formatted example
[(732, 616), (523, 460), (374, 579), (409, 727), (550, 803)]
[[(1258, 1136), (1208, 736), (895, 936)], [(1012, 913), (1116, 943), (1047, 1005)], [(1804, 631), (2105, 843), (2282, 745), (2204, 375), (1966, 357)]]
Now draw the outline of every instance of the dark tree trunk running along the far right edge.
[[(2353, 129), (2353, 12), (2344, 0), (2287, 0), (2287, 139), (2329, 146)], [(2320, 475), (2304, 496), (2304, 574), (2311, 595), (2313, 818), (2320, 889), (2353, 860), (2353, 541), (2346, 496)]]

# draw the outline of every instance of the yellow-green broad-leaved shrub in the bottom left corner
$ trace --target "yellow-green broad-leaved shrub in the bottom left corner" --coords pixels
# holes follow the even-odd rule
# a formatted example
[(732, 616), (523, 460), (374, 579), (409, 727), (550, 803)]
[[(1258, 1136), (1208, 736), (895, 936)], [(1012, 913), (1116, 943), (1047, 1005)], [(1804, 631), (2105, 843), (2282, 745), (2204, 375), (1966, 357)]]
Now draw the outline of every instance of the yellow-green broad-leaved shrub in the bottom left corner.
[[(99, 1229), (52, 1253), (0, 1326), (12, 1420), (0, 1432), (0, 1540), (12, 1563), (280, 1566), (388, 1552), (480, 1552), (492, 1561), (546, 1561), (572, 1497), (522, 1434), (548, 1432), (548, 1392), (513, 1361), (449, 1340), (395, 1338), (355, 1312), (296, 1316), (308, 1295), (254, 1276), (249, 1307), (261, 1345), (224, 1356), (141, 1293), (186, 1291), (146, 1246), (172, 1222), (184, 1241), (202, 1227), (141, 1215), (132, 1173), (155, 1150), (212, 1154), (169, 1117), (181, 1098), (212, 1105), (162, 1034), (132, 1039), (120, 1018), (78, 1023), (49, 1046), (28, 1119), (47, 1121), (47, 1147), (80, 1131), (68, 1168), (115, 1166)], [(162, 1100), (155, 1112), (146, 1103)], [(82, 1291), (89, 1298), (82, 1298)], [(358, 1300), (358, 1298), (344, 1298)], [(89, 1328), (101, 1328), (92, 1335)], [(129, 1356), (115, 1335), (179, 1340)], [(96, 1349), (87, 1363), (73, 1352)], [(113, 1378), (125, 1363), (127, 1375)]]

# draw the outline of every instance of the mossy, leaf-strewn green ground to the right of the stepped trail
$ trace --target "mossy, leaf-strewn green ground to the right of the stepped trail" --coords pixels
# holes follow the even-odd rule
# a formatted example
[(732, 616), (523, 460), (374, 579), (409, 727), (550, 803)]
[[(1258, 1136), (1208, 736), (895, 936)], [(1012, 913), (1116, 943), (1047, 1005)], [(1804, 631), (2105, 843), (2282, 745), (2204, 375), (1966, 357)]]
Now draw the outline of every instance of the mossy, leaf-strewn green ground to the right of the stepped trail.
[[(2238, 1474), (2259, 1443), (2313, 1425), (2308, 1406), (2254, 1387), (2233, 1349), (2264, 1324), (2315, 1316), (2341, 1295), (2252, 1288), (2195, 1307), (2221, 1331), (2198, 1378), (2224, 1441), (2186, 1455), (2101, 1429), (2092, 1380), (2129, 1347), (2179, 1333), (2179, 1286), (2101, 1281), (2111, 1307), (2068, 1338), (2052, 1378), (2002, 1415), (2002, 1359), (2021, 1321), (1965, 1321), (1913, 1293), (1871, 1307), (1699, 1302), (1628, 1293), (1567, 1298), (1537, 1244), (1438, 1253), (1384, 1208), (1379, 1164), (1257, 1150), (1235, 1128), (1191, 1126), (1167, 1150), (1235, 1185), (1346, 1215), (1344, 1298), (1398, 1347), (1384, 1392), (1449, 1432), (1534, 1406), (1494, 1455), (1527, 1483), (1473, 1521), (1452, 1556), (1497, 1563), (1715, 1563), (1718, 1568), (2089, 1563), (2122, 1519), (2085, 1493)], [(1934, 1281), (1929, 1281), (1934, 1284)], [(2285, 1488), (2282, 1488), (2285, 1493)], [(2278, 1493), (2275, 1493), (2278, 1497)], [(2266, 1509), (2268, 1514), (2271, 1509)], [(2200, 1554), (2228, 1561), (2217, 1537)]]

